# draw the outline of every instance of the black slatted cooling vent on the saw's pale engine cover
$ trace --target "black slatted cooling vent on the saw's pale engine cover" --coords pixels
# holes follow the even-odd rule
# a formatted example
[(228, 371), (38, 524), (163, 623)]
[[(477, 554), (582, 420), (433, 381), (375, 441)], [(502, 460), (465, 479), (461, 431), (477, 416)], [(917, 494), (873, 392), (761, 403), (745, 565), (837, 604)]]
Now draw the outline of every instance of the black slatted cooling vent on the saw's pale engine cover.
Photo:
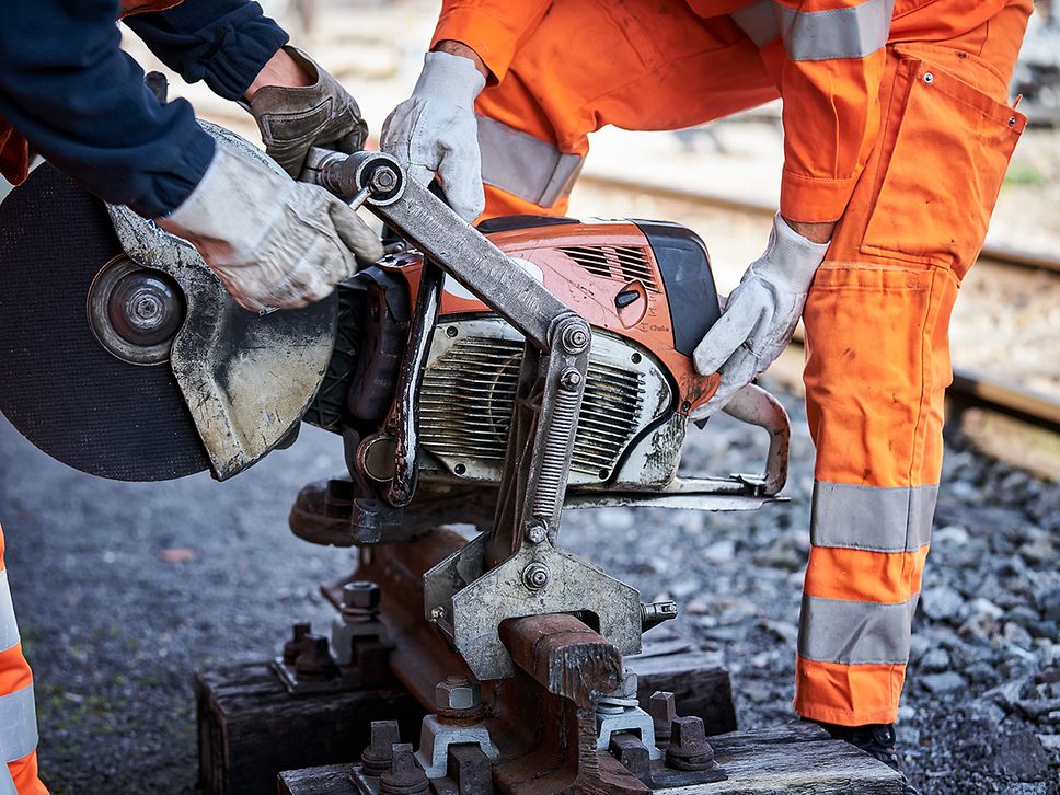
[[(424, 375), (424, 447), (449, 461), (504, 461), (521, 360), (520, 341), (469, 335), (453, 343)], [(611, 475), (640, 429), (643, 381), (636, 370), (590, 355), (573, 472)]]

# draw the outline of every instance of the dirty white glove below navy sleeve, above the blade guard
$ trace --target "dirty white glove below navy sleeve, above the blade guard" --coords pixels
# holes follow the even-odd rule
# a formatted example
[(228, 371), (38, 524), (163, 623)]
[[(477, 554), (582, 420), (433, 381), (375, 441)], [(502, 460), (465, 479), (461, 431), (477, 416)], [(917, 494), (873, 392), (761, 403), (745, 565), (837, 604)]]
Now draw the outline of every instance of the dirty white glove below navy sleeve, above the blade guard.
[(235, 302), (252, 312), (319, 301), (357, 270), (358, 261), (383, 255), (379, 238), (341, 199), (223, 141), (191, 196), (158, 224), (198, 249)]

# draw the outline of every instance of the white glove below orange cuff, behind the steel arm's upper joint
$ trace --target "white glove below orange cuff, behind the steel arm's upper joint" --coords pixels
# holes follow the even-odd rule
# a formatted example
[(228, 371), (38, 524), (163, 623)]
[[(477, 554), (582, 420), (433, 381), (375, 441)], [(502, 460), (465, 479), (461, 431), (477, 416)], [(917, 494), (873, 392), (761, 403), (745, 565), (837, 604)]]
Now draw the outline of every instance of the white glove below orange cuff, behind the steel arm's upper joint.
[(427, 53), (412, 96), (383, 122), (379, 141), (416, 182), (427, 185), (437, 174), (449, 206), (465, 221), (486, 206), (474, 110), (485, 84), (470, 58)]

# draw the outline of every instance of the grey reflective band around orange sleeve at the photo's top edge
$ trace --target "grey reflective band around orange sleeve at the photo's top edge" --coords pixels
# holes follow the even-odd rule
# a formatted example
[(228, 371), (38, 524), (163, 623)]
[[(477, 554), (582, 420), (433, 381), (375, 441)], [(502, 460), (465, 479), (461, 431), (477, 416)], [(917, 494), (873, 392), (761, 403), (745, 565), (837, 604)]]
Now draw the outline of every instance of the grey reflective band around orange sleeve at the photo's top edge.
[(792, 60), (864, 58), (887, 44), (895, 0), (865, 0), (834, 11), (796, 11), (774, 3)]

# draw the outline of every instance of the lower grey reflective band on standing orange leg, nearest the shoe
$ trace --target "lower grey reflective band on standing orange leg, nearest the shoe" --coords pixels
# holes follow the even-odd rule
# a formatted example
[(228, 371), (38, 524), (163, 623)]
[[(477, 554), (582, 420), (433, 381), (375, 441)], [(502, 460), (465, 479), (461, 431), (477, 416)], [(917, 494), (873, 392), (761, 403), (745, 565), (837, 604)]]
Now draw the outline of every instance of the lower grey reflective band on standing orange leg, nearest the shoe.
[(919, 596), (897, 604), (803, 596), (798, 654), (843, 665), (903, 665)]

